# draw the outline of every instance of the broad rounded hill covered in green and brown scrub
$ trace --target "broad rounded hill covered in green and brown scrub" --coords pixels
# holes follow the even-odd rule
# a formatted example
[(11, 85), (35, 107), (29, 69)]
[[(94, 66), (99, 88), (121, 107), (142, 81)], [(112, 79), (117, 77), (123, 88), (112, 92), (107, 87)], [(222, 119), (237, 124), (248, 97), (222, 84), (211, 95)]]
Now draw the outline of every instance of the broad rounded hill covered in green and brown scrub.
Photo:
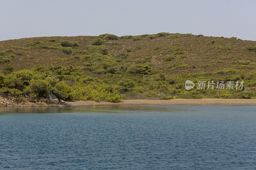
[[(1, 92), (20, 97), (45, 96), (47, 91), (64, 100), (114, 102), (256, 97), (255, 91), (244, 91), (256, 85), (256, 41), (236, 37), (157, 33), (23, 38), (0, 41), (0, 62)], [(239, 80), (244, 88), (187, 91), (186, 80)]]

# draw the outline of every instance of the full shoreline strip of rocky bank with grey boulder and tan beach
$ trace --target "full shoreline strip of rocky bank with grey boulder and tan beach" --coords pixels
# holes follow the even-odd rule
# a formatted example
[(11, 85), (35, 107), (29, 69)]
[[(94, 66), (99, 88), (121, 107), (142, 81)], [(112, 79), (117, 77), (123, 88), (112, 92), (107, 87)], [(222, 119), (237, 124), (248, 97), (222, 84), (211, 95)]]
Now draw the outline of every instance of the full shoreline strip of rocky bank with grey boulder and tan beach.
[(75, 107), (97, 105), (256, 105), (256, 99), (171, 99), (171, 100), (122, 100), (118, 103), (96, 101), (63, 101), (51, 92), (46, 98), (19, 98), (0, 96), (0, 106), (50, 106)]

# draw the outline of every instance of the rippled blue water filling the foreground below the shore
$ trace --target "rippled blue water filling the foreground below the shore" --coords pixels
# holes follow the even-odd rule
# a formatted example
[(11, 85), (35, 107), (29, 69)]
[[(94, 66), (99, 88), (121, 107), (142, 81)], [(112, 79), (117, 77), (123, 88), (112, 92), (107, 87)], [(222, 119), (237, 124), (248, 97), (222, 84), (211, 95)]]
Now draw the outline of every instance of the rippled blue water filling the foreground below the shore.
[(0, 107), (0, 169), (253, 169), (256, 106)]

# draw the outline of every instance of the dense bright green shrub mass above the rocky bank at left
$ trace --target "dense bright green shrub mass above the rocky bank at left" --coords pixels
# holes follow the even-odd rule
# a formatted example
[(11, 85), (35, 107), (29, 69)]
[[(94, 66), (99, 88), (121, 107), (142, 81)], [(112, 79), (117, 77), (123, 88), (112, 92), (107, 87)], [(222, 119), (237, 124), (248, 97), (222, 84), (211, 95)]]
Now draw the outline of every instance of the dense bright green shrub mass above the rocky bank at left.
[[(48, 77), (53, 75), (54, 77)], [(56, 79), (55, 79), (56, 77)], [(69, 85), (68, 82), (73, 82)], [(43, 67), (0, 75), (0, 92), (12, 95), (26, 94), (29, 97), (47, 97), (52, 91), (63, 100), (95, 100), (118, 102), (122, 96), (111, 85), (81, 75), (77, 68)]]

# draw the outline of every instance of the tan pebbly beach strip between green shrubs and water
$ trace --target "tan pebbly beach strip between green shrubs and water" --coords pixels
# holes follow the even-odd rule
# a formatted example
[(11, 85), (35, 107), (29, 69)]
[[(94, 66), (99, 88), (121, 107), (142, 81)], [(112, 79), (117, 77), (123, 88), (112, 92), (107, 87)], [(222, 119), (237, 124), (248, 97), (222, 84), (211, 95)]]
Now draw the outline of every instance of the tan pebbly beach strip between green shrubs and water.
[(70, 106), (93, 105), (256, 105), (256, 99), (171, 99), (171, 100), (122, 100), (119, 103), (96, 101), (67, 101)]

